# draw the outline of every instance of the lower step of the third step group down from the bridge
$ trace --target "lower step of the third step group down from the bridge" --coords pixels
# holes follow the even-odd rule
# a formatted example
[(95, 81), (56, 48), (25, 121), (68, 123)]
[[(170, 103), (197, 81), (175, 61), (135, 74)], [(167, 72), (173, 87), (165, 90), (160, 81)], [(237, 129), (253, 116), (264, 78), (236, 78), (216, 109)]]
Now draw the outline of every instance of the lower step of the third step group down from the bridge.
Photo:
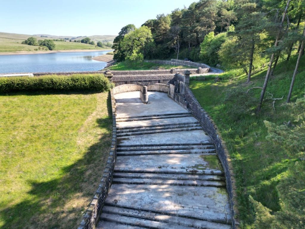
[(190, 149), (190, 150), (145, 150), (145, 151), (120, 151), (117, 156), (156, 155), (156, 154), (205, 154), (216, 155), (215, 149)]

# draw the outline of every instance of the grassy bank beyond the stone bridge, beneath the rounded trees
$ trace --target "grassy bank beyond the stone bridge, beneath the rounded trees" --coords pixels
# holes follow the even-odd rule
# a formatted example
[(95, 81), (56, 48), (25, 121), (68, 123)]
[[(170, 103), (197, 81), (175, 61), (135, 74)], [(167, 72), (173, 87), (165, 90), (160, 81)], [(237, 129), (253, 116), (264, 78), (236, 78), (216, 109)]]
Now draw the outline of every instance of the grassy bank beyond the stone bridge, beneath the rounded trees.
[(189, 67), (189, 66), (175, 66), (175, 65), (168, 65), (168, 64), (155, 64), (155, 63), (133, 63), (129, 64), (126, 61), (117, 63), (111, 67), (110, 70), (117, 70), (117, 71), (127, 71), (127, 70), (158, 70), (158, 69), (188, 69), (188, 68), (196, 68), (196, 67)]

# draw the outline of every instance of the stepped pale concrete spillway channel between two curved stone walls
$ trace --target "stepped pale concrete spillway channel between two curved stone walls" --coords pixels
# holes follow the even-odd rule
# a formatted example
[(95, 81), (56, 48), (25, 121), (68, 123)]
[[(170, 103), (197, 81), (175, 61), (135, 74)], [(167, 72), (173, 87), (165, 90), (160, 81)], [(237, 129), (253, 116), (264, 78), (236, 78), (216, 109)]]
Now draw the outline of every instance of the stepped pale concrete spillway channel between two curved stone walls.
[(215, 146), (166, 93), (115, 95), (117, 162), (97, 228), (231, 228)]

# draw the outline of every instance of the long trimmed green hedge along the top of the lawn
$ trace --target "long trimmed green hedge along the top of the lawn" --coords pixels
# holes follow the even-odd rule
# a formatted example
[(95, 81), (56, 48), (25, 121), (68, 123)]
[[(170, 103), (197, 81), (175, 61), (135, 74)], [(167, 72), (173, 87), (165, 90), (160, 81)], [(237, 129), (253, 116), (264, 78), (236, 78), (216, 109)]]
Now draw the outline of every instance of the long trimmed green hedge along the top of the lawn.
[(111, 88), (102, 74), (0, 77), (0, 93), (20, 91), (107, 91)]

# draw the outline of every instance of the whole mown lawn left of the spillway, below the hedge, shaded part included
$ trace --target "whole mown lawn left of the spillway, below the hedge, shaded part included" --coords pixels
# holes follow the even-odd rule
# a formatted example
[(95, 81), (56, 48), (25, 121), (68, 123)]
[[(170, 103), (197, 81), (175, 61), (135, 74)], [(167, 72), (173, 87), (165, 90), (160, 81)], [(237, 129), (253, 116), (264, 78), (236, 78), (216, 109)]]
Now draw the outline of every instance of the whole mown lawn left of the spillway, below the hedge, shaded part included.
[(109, 93), (0, 95), (0, 227), (76, 228), (111, 144)]

